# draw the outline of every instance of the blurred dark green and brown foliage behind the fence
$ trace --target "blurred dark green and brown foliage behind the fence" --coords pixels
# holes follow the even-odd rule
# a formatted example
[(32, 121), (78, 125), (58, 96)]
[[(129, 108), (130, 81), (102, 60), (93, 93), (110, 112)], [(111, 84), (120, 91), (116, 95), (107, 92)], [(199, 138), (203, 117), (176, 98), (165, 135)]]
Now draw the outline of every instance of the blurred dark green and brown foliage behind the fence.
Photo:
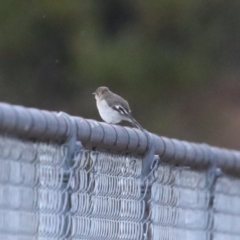
[(106, 85), (149, 131), (240, 148), (240, 1), (0, 5), (1, 101), (100, 120)]

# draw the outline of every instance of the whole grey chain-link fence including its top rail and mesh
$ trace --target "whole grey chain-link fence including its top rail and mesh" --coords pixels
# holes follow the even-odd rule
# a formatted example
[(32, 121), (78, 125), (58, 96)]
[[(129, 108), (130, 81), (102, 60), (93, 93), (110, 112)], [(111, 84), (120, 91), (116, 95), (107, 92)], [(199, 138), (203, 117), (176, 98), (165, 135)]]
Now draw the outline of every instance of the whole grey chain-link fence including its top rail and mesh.
[(0, 104), (0, 239), (240, 239), (240, 153)]

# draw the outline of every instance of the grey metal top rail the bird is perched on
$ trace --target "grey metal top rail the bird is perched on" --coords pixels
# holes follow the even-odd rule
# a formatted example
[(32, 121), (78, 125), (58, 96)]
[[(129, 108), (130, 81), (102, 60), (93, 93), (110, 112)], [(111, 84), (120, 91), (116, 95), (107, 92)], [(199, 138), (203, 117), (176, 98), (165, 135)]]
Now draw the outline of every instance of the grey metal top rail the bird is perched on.
[[(111, 125), (67, 114), (0, 103), (0, 131), (27, 139), (65, 142), (74, 135), (86, 148), (108, 149), (144, 155), (148, 149), (147, 132)], [(190, 143), (149, 133), (155, 154), (180, 165), (219, 167), (240, 172), (240, 152), (207, 144)]]

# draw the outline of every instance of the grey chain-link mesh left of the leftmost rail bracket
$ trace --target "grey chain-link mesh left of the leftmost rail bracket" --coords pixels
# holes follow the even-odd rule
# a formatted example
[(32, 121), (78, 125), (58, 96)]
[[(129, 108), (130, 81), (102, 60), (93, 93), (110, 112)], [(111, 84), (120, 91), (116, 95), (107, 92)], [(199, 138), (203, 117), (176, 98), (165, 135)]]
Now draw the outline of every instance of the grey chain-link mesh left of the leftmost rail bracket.
[(68, 193), (61, 146), (0, 137), (0, 239), (61, 239)]

